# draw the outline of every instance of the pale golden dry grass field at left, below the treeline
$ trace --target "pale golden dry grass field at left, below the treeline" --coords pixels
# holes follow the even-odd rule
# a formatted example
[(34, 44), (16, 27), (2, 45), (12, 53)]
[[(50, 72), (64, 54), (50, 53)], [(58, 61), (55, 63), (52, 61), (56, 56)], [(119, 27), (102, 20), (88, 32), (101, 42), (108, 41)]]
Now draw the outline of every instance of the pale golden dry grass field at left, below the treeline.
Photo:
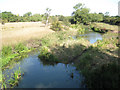
[(7, 23), (2, 25), (2, 45), (13, 45), (53, 33), (41, 22)]

